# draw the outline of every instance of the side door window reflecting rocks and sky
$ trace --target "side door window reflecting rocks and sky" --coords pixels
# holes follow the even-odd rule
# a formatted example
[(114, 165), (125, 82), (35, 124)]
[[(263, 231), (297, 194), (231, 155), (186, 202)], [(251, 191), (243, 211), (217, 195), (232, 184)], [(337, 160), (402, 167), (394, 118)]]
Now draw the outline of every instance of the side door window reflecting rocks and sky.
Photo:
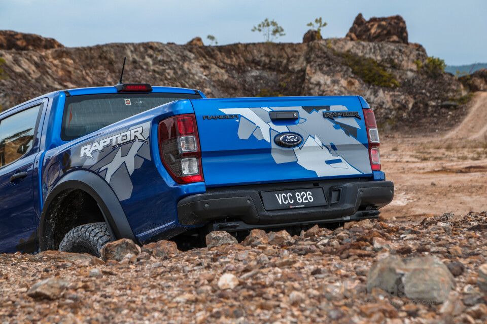
[(40, 109), (38, 105), (0, 120), (0, 167), (30, 151)]

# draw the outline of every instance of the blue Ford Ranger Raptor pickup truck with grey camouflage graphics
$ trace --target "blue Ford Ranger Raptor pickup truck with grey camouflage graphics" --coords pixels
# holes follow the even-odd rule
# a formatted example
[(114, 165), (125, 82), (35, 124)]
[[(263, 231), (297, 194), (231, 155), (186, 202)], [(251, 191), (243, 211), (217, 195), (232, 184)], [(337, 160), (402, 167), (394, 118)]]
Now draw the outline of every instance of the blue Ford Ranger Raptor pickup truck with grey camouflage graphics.
[(119, 84), (0, 113), (0, 253), (374, 218), (393, 195), (359, 96)]

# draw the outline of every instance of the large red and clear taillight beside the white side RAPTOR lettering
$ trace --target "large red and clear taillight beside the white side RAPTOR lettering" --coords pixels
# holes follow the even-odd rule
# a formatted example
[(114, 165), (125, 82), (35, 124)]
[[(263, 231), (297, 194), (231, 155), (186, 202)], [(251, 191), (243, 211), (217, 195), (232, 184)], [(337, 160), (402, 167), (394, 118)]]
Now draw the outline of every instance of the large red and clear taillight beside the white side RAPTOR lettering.
[(194, 114), (177, 115), (161, 121), (159, 152), (162, 164), (176, 182), (204, 181)]

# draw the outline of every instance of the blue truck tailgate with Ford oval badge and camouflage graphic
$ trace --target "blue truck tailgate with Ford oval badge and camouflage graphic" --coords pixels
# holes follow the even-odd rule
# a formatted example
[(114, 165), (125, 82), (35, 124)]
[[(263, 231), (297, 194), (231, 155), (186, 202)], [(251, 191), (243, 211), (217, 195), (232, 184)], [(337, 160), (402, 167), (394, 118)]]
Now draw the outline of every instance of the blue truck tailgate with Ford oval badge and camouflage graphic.
[(356, 96), (191, 102), (207, 186), (372, 175)]

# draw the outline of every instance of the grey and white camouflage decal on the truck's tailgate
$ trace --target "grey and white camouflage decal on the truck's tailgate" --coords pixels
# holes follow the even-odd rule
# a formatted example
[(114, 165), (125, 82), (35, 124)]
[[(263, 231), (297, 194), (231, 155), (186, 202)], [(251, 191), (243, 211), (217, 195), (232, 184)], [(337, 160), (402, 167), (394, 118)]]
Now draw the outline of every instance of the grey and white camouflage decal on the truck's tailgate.
[[(358, 139), (361, 129), (355, 117), (340, 117), (335, 120), (324, 118), (323, 111), (347, 111), (342, 105), (310, 107), (260, 107), (223, 108), (226, 114), (239, 114), (238, 137), (248, 140), (254, 136), (271, 144), (271, 154), (276, 164), (296, 162), (306, 170), (315, 171), (318, 177), (360, 175), (370, 171), (368, 149)], [(296, 125), (274, 125), (269, 111), (297, 110), (299, 120)], [(328, 125), (327, 125), (328, 124)], [(280, 133), (297, 133), (303, 137), (299, 146), (283, 149), (274, 143)], [(331, 142), (339, 143), (341, 150)], [(322, 161), (322, 163), (317, 163)]]

